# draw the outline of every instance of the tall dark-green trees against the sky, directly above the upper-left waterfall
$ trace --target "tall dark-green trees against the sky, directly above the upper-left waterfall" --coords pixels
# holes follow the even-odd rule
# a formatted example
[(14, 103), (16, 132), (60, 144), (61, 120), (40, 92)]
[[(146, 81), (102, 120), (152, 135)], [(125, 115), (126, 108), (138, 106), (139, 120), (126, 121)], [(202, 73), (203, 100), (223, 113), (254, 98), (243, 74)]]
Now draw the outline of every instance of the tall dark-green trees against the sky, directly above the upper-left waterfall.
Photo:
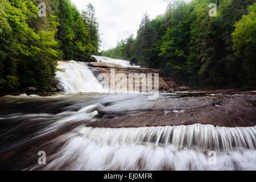
[(60, 20), (57, 39), (64, 60), (87, 61), (98, 54), (100, 36), (95, 10), (91, 3), (80, 14), (69, 0), (59, 0)]

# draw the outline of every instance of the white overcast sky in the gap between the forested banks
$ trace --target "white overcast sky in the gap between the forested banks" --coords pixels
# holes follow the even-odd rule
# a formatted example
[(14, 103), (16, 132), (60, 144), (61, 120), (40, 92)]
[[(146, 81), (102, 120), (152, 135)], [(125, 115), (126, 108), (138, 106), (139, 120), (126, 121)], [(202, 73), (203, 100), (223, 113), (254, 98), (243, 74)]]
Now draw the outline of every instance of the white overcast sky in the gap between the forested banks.
[(117, 42), (136, 35), (144, 13), (155, 18), (163, 14), (168, 0), (72, 0), (80, 11), (90, 2), (100, 24), (101, 50), (115, 47)]

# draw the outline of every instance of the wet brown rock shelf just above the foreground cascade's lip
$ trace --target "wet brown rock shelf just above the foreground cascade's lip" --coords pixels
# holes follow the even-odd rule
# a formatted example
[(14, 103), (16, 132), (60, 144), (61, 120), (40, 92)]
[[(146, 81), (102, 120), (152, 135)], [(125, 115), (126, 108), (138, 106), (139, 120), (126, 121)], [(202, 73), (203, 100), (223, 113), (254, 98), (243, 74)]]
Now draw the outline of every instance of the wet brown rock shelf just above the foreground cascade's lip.
[[(256, 96), (220, 95), (166, 98), (133, 110), (99, 110), (101, 119), (92, 127), (177, 126), (201, 123), (225, 127), (256, 125)], [(126, 113), (126, 114), (124, 114)]]

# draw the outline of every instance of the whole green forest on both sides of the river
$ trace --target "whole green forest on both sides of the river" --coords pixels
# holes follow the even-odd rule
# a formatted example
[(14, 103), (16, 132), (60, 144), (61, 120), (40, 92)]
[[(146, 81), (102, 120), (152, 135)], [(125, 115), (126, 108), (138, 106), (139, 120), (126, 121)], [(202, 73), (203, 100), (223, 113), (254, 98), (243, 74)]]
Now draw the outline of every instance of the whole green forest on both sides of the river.
[[(39, 14), (42, 2), (46, 16)], [(216, 3), (216, 16), (209, 3)], [(57, 60), (92, 55), (160, 69), (192, 88), (256, 85), (255, 0), (170, 1), (155, 19), (143, 15), (135, 38), (100, 53), (95, 9), (84, 9), (71, 0), (1, 0), (0, 91), (48, 89)]]

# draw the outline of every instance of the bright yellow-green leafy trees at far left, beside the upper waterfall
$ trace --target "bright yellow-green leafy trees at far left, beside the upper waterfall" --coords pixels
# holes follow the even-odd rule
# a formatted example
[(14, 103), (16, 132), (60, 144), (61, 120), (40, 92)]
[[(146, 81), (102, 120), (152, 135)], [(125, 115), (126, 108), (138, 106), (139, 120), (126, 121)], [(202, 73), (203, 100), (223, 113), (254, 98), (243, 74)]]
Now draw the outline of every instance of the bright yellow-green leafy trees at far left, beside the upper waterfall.
[(51, 85), (57, 59), (57, 51), (53, 49), (57, 44), (55, 17), (49, 16), (52, 23), (48, 31), (35, 32), (27, 23), (30, 18), (38, 18), (34, 3), (24, 0), (1, 3), (1, 16), (6, 24), (0, 37), (1, 90), (26, 86), (45, 89)]

